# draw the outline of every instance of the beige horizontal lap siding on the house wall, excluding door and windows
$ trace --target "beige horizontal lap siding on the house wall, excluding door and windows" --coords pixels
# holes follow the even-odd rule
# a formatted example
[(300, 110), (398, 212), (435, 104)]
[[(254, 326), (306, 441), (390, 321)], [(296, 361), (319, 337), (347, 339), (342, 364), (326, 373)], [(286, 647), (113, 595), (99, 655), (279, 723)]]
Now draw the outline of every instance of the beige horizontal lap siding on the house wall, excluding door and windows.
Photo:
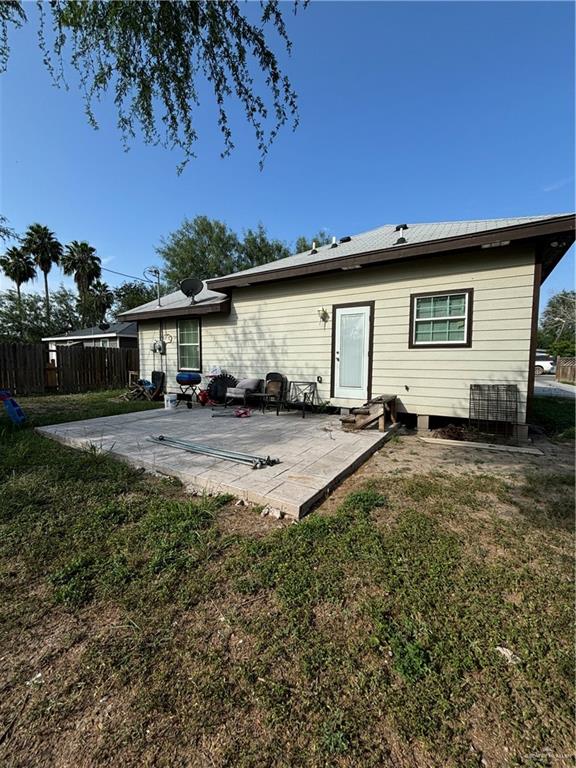
[[(236, 289), (229, 317), (202, 319), (203, 370), (220, 365), (236, 377), (264, 377), (272, 370), (293, 380), (321, 376), (319, 393), (328, 400), (332, 320), (321, 322), (317, 310), (331, 313), (333, 304), (366, 300), (375, 302), (373, 394), (398, 394), (408, 412), (465, 417), (470, 384), (514, 383), (524, 404), (533, 279), (531, 252), (498, 249)], [(472, 347), (409, 349), (410, 294), (458, 288), (474, 288)], [(158, 324), (140, 324), (141, 367), (148, 377), (159, 364), (160, 356), (148, 351), (159, 333)], [(176, 322), (165, 321), (164, 333), (162, 366), (173, 387)]]

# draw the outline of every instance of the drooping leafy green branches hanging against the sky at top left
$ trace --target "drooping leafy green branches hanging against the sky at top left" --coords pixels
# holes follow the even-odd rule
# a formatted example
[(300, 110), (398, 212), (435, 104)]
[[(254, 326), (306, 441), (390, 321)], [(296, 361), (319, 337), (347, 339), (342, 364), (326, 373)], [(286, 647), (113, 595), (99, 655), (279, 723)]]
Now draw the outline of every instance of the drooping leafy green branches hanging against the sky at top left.
[[(181, 167), (194, 157), (202, 81), (213, 91), (222, 155), (234, 148), (228, 102), (236, 98), (255, 132), (262, 163), (279, 129), (296, 127), (296, 93), (269, 40), (291, 50), (279, 0), (261, 0), (259, 18), (230, 0), (38, 2), (40, 44), (54, 83), (65, 64), (77, 72), (90, 123), (94, 104), (111, 92), (125, 146), (140, 131), (150, 144), (178, 147)], [(296, 9), (296, 4), (294, 4)], [(26, 21), (23, 3), (0, 4), (0, 71), (8, 30)], [(51, 29), (50, 29), (51, 28)]]

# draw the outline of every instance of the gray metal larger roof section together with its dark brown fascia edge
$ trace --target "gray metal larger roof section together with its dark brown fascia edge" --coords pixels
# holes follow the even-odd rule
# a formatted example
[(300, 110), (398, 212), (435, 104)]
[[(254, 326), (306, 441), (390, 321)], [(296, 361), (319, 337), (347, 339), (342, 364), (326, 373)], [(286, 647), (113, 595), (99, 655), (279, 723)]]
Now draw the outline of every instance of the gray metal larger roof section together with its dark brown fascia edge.
[[(404, 224), (404, 222), (399, 222)], [(265, 280), (279, 280), (347, 266), (363, 266), (381, 261), (396, 261), (412, 256), (442, 253), (466, 247), (488, 247), (490, 240), (520, 240), (546, 234), (574, 232), (574, 214), (525, 216), (521, 218), (484, 219), (479, 221), (443, 221), (429, 224), (398, 224), (353, 235), (348, 242), (337, 241), (336, 247), (323, 245), (316, 253), (304, 251), (294, 256), (245, 269), (208, 281), (213, 288), (249, 285)], [(495, 234), (495, 238), (491, 237)], [(344, 233), (346, 234), (346, 233)], [(403, 237), (405, 243), (397, 243)], [(572, 238), (573, 240), (573, 238)], [(568, 243), (568, 247), (571, 242)], [(562, 254), (564, 251), (562, 251)], [(562, 255), (561, 254), (561, 255)], [(360, 257), (371, 257), (362, 263)]]

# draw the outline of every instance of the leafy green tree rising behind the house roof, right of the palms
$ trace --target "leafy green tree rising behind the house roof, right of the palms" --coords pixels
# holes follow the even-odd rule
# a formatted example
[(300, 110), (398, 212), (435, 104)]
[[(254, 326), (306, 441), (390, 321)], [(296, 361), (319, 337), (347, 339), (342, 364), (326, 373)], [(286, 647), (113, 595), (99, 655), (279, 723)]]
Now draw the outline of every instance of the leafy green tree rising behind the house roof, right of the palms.
[(220, 277), (290, 255), (284, 243), (268, 237), (262, 224), (247, 229), (241, 239), (224, 222), (207, 216), (184, 219), (156, 251), (171, 287), (186, 277)]

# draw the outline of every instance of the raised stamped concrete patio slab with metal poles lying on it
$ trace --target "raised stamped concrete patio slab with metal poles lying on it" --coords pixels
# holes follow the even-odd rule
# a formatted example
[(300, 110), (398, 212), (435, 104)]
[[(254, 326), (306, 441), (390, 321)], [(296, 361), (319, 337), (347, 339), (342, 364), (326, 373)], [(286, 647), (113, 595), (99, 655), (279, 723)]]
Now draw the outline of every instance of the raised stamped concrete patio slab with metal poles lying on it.
[[(209, 408), (143, 411), (39, 427), (76, 448), (93, 448), (138, 467), (178, 477), (191, 491), (231, 493), (301, 517), (386, 440), (377, 430), (343, 432), (337, 416), (294, 411), (212, 418)], [(261, 469), (151, 442), (165, 435), (280, 459)]]

